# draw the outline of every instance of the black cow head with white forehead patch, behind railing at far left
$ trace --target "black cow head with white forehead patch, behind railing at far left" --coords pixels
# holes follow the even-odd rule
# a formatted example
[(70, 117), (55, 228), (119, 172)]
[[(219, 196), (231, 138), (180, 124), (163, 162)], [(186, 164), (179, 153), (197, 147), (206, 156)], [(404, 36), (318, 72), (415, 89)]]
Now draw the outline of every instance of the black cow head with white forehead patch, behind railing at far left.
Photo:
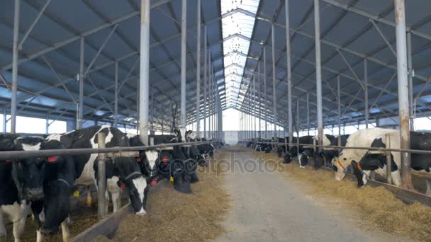
[[(43, 148), (45, 140), (38, 137), (17, 138), (16, 151), (36, 151)], [(47, 158), (13, 159), (12, 178), (21, 200), (41, 200)]]

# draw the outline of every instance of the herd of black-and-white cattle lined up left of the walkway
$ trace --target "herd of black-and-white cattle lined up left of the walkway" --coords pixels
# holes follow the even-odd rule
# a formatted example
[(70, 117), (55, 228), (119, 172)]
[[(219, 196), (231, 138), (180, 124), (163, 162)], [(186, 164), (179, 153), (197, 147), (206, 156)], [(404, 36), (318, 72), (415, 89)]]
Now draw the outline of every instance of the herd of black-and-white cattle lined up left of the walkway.
[[(0, 151), (36, 151), (46, 149), (98, 148), (98, 134), (104, 133), (106, 147), (144, 146), (138, 135), (125, 134), (115, 127), (94, 126), (47, 137), (0, 135)], [(150, 136), (151, 144), (206, 141), (196, 139), (191, 131), (175, 130), (172, 135)], [(214, 144), (214, 145), (213, 145)], [(175, 190), (191, 193), (196, 183), (196, 168), (213, 157), (213, 144), (170, 146), (166, 149), (140, 151), (138, 157), (116, 157), (106, 160), (106, 198), (113, 210), (120, 207), (125, 190), (135, 214), (146, 214), (147, 192), (160, 180), (171, 180)], [(67, 218), (70, 197), (78, 185), (96, 186), (98, 154), (50, 156), (0, 161), (0, 241), (6, 238), (5, 218), (13, 222), (13, 236), (20, 241), (26, 219), (33, 214), (37, 239), (56, 234), (61, 226), (63, 240), (69, 238)], [(106, 205), (106, 211), (108, 207)]]

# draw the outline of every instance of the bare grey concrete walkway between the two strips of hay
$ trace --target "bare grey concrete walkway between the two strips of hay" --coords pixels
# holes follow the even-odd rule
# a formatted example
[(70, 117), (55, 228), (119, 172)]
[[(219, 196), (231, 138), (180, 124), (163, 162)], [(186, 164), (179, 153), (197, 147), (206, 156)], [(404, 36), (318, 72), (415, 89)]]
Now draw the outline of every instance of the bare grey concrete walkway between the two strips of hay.
[(223, 224), (228, 233), (215, 241), (405, 241), (362, 231), (336, 207), (316, 203), (279, 173), (240, 173), (245, 161), (256, 160), (245, 152), (250, 149), (226, 151), (237, 159), (235, 172), (225, 175), (233, 208)]

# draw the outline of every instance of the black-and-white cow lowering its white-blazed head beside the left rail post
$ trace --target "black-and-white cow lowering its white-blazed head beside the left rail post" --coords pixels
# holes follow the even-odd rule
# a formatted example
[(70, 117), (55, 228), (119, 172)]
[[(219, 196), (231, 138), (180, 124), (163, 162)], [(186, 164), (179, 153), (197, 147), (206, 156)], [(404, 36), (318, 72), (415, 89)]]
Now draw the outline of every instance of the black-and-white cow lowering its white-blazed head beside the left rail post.
[[(61, 135), (48, 136), (47, 140), (59, 140), (69, 149), (98, 148), (97, 139), (99, 133), (106, 135), (106, 147), (128, 147), (128, 137), (116, 127), (92, 126), (85, 129), (77, 129)], [(98, 154), (85, 154), (73, 156), (76, 179), (74, 185), (97, 185)], [(106, 160), (106, 199), (108, 193), (113, 200), (114, 212), (120, 208), (120, 192), (128, 190), (130, 203), (135, 214), (144, 215), (147, 201), (147, 181), (142, 176), (135, 157), (116, 157)], [(106, 212), (107, 212), (106, 204)]]

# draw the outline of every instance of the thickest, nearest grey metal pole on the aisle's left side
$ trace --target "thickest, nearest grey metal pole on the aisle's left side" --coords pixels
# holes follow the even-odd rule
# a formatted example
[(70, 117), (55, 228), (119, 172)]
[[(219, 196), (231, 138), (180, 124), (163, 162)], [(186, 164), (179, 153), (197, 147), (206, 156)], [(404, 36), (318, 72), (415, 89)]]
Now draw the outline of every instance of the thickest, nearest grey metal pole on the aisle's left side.
[(140, 141), (148, 145), (148, 110), (150, 108), (150, 0), (141, 0), (140, 13)]

